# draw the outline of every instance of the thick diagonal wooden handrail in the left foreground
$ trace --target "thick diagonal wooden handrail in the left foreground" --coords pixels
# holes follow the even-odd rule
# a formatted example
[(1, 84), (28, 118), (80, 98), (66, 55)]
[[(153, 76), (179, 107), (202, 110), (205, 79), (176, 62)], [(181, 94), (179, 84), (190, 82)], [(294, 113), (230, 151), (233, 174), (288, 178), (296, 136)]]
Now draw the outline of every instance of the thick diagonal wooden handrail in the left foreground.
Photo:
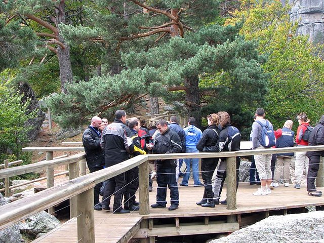
[(61, 185), (1, 206), (0, 230), (93, 188), (96, 184), (139, 166), (145, 161), (147, 161), (147, 155), (139, 155), (109, 168), (75, 178)]

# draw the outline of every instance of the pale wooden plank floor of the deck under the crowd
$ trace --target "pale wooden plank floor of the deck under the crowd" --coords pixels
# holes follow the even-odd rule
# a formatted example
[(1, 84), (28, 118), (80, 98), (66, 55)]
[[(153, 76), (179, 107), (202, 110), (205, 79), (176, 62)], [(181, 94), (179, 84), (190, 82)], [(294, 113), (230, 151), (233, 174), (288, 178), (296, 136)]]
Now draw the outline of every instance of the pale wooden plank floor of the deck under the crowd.
[[(153, 192), (150, 192), (150, 204), (155, 203), (156, 200), (155, 182), (153, 186)], [(203, 196), (204, 187), (193, 187), (192, 181), (189, 181), (189, 186), (179, 187), (180, 204), (179, 209), (175, 211), (168, 210), (170, 204), (167, 205), (167, 208), (150, 209), (150, 214), (143, 217), (139, 215), (138, 211), (123, 215), (112, 214), (104, 210), (95, 211), (96, 242), (117, 242), (138, 224), (142, 218), (221, 216), (324, 205), (322, 197), (308, 196), (305, 186), (302, 189), (294, 189), (293, 185), (289, 187), (280, 185), (279, 188), (271, 190), (272, 193), (270, 195), (252, 195), (258, 188), (259, 186), (249, 185), (249, 183), (241, 184), (237, 191), (236, 210), (227, 210), (226, 205), (216, 205), (215, 208), (197, 206), (195, 202), (199, 201)], [(321, 189), (324, 190), (324, 188), (318, 188), (318, 190)], [(224, 186), (221, 199), (225, 199), (225, 197), (226, 186)], [(169, 190), (167, 192), (167, 201), (170, 202)], [(204, 221), (201, 221), (201, 224), (204, 224)], [(174, 224), (174, 227), (176, 227), (176, 224)], [(66, 222), (59, 229), (55, 229), (33, 242), (77, 242), (76, 220)]]

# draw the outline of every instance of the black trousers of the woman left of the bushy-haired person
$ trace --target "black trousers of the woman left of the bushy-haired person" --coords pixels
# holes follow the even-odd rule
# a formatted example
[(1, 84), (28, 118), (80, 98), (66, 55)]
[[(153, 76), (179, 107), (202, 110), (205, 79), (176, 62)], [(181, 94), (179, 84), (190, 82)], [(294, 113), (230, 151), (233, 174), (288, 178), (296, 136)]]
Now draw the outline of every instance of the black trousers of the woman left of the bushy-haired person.
[(218, 164), (218, 158), (201, 159), (201, 177), (204, 182), (203, 199), (213, 200), (212, 177)]

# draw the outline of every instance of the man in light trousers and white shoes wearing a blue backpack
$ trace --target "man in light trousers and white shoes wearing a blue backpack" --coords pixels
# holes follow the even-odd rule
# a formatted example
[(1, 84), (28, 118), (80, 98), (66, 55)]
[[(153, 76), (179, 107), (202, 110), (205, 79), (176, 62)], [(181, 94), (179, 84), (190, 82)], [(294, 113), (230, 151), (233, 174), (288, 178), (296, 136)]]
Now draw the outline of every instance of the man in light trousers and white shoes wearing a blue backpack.
[[(271, 148), (275, 145), (273, 126), (270, 121), (264, 118), (265, 113), (263, 108), (258, 108), (255, 115), (257, 119), (252, 124), (252, 149)], [(271, 193), (271, 158), (272, 154), (254, 155), (261, 187), (253, 195), (268, 195)]]

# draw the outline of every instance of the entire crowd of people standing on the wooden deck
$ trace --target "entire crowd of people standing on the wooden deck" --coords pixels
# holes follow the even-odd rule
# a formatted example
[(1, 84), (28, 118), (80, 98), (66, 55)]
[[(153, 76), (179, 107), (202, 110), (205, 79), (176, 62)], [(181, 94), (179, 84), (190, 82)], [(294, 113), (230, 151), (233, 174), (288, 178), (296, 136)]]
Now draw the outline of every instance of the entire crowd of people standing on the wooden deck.
[[(171, 116), (170, 123), (161, 119), (152, 129), (146, 128), (145, 121), (141, 124), (137, 118), (127, 119), (124, 110), (115, 112), (113, 123), (108, 125), (107, 119), (94, 116), (91, 125), (83, 134), (83, 144), (86, 151), (86, 160), (90, 172), (95, 172), (121, 163), (132, 156), (153, 153), (192, 153), (192, 152), (222, 152), (237, 151), (240, 149), (241, 135), (237, 128), (231, 126), (230, 116), (225, 111), (208, 115), (208, 128), (201, 132), (195, 126), (195, 118), (188, 118), (188, 127), (182, 129), (177, 123), (177, 117)], [(309, 126), (309, 120), (305, 113), (298, 115), (299, 128), (297, 130), (297, 146), (322, 145), (324, 144), (324, 115), (319, 124), (312, 130), (309, 139), (305, 141), (303, 134)], [(255, 113), (255, 121), (252, 125), (251, 141), (252, 149), (264, 149), (261, 144), (263, 127), (273, 129), (270, 121), (265, 119), (263, 108), (258, 108)], [(294, 132), (291, 130), (293, 122), (287, 120), (282, 129), (274, 131), (276, 142), (275, 147), (294, 146)], [(293, 153), (279, 153), (275, 162), (274, 173), (271, 172), (272, 154), (254, 155), (257, 175), (260, 178), (261, 187), (254, 192), (254, 195), (268, 195), (271, 193), (270, 186), (277, 187), (283, 172), (285, 186), (289, 186), (289, 165)], [(296, 152), (295, 188), (300, 188), (301, 176), (304, 166), (309, 167), (307, 173), (307, 191), (309, 195), (320, 196), (321, 192), (316, 191), (314, 179), (317, 176), (319, 157), (323, 151)], [(184, 156), (186, 157), (186, 156)], [(214, 208), (218, 204), (226, 204), (220, 200), (223, 184), (226, 178), (226, 157), (223, 158), (202, 158), (201, 177), (199, 180), (198, 158), (184, 158), (187, 171), (183, 175), (180, 186), (188, 186), (190, 169), (192, 169), (193, 185), (204, 186), (203, 198), (196, 204), (201, 207)], [(151, 208), (166, 208), (167, 188), (170, 189), (169, 210), (176, 210), (179, 207), (178, 179), (182, 159), (158, 159), (154, 163), (156, 169), (156, 203)], [(216, 180), (212, 186), (214, 171), (218, 166)], [(240, 158), (236, 157), (236, 189), (238, 187), (238, 168)], [(151, 176), (149, 176), (151, 179)], [(258, 182), (258, 181), (257, 181)], [(150, 191), (152, 182), (150, 180)], [(139, 203), (136, 201), (135, 192), (138, 189), (138, 168), (121, 173), (106, 181), (103, 198), (100, 203), (99, 194), (101, 183), (94, 188), (95, 210), (110, 210), (110, 197), (114, 195), (113, 213), (129, 213), (139, 210)], [(123, 206), (124, 198), (124, 208)]]

